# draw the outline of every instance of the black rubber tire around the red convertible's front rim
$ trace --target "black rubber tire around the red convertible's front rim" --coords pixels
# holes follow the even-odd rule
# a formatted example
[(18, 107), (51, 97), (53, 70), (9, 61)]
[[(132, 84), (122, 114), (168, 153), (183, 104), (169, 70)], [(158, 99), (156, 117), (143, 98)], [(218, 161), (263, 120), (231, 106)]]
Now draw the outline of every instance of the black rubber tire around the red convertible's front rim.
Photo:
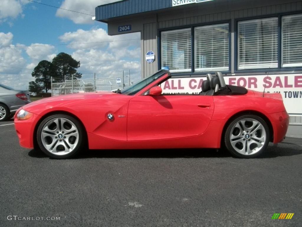
[[(54, 120), (55, 118), (65, 118), (70, 120), (78, 129), (78, 134), (79, 134), (79, 138), (78, 138), (78, 143), (75, 146), (75, 148), (68, 154), (66, 155), (56, 155), (56, 152), (51, 153), (49, 150), (46, 149), (46, 147), (43, 145), (42, 142), (42, 138), (41, 138), (41, 133), (42, 130), (44, 129), (44, 127), (46, 126), (46, 123), (49, 123), (51, 120)], [(59, 140), (59, 139), (57, 139)], [(38, 146), (40, 147), (40, 149), (43, 151), (43, 153), (45, 153), (47, 156), (54, 158), (54, 159), (68, 159), (68, 158), (72, 158), (74, 156), (76, 156), (84, 147), (85, 145), (85, 141), (86, 140), (86, 136), (85, 136), (85, 129), (82, 127), (82, 124), (75, 119), (74, 117), (71, 117), (69, 115), (65, 115), (65, 114), (55, 114), (55, 115), (51, 115), (47, 118), (45, 118), (39, 125), (38, 130), (37, 130), (37, 142), (38, 142)], [(44, 141), (45, 142), (45, 141)]]

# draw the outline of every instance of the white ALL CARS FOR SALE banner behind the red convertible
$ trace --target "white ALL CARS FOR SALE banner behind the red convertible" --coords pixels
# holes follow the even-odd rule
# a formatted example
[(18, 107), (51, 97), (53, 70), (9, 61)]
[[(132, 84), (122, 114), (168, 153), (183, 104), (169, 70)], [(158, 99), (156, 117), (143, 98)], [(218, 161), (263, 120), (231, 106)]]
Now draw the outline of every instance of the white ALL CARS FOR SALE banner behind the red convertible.
[[(199, 94), (206, 77), (175, 78), (161, 84), (163, 94)], [(285, 108), (292, 116), (302, 114), (302, 74), (226, 76), (226, 84), (263, 92), (282, 94)]]

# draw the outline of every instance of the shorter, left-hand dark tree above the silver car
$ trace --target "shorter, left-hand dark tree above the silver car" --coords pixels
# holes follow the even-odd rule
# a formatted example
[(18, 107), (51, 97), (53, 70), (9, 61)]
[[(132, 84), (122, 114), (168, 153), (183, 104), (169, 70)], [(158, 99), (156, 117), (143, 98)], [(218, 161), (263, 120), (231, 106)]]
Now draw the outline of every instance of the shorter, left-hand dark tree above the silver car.
[(34, 71), (31, 73), (33, 77), (36, 77), (36, 80), (35, 82), (31, 81), (29, 84), (33, 89), (37, 89), (40, 86), (42, 87), (42, 90), (45, 90), (47, 93), (47, 91), (50, 90), (50, 79), (52, 74), (53, 64), (46, 60), (40, 61), (39, 64), (34, 68)]

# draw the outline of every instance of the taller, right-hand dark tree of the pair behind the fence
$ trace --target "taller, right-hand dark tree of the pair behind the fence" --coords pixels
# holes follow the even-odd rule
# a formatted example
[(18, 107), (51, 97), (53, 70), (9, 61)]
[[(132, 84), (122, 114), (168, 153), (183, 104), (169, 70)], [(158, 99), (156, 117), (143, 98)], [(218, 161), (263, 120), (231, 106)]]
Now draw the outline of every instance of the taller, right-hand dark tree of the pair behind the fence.
[(76, 69), (80, 67), (80, 62), (73, 59), (69, 54), (63, 52), (57, 54), (57, 56), (53, 58), (52, 64), (54, 77), (57, 77), (59, 81), (64, 81), (64, 78), (66, 78), (66, 80), (72, 80), (72, 75), (74, 80), (82, 77), (82, 74), (76, 71)]

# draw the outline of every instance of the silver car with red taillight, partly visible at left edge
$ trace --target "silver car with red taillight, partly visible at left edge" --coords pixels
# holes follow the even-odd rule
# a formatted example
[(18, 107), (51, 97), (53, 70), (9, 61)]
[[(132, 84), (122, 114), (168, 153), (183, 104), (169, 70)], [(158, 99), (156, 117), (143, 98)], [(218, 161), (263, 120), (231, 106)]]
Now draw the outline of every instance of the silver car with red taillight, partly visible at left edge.
[(0, 84), (0, 121), (11, 118), (16, 110), (31, 102), (29, 92)]

